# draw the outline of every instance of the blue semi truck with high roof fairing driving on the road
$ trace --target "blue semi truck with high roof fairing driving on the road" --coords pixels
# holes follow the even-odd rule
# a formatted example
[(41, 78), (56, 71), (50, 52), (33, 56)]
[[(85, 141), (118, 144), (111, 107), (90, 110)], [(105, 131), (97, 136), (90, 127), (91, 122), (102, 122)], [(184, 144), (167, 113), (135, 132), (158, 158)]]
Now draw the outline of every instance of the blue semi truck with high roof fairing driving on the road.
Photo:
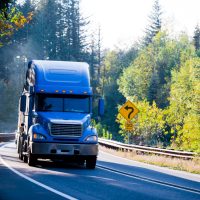
[[(98, 134), (91, 124), (92, 99), (87, 63), (30, 61), (19, 100), (19, 158), (30, 166), (37, 159), (70, 159), (94, 169)], [(101, 98), (98, 110), (102, 115)]]

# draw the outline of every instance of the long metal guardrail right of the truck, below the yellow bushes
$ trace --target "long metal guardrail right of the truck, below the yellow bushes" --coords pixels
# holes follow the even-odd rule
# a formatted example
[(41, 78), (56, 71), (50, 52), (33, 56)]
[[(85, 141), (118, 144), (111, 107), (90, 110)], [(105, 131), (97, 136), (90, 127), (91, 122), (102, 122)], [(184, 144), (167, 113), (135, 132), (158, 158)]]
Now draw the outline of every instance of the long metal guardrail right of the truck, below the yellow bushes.
[(176, 151), (170, 149), (160, 149), (155, 147), (124, 144), (122, 142), (117, 142), (114, 140), (107, 140), (102, 138), (99, 138), (99, 144), (112, 149), (135, 152), (136, 154), (156, 154), (156, 155), (176, 157), (182, 159), (193, 159), (195, 158), (195, 156), (197, 156), (197, 154), (194, 152)]

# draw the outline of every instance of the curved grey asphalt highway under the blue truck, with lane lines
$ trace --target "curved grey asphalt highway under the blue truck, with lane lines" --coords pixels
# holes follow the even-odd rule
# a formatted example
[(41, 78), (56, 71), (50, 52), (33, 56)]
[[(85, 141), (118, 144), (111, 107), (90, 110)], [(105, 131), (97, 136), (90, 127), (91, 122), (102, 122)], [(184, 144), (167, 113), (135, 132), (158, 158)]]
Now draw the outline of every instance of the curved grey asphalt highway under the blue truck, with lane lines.
[(14, 142), (0, 143), (0, 200), (199, 200), (200, 175), (100, 152), (95, 170), (40, 160), (29, 167)]

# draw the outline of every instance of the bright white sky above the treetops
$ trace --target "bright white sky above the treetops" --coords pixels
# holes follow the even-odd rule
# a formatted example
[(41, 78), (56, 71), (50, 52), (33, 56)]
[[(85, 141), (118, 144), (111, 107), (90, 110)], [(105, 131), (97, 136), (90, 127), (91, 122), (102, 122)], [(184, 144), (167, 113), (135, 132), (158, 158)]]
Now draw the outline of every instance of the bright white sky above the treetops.
[[(127, 48), (138, 41), (148, 26), (155, 0), (81, 0), (90, 29), (101, 27), (103, 48)], [(200, 25), (200, 0), (160, 0), (163, 25), (173, 35), (182, 31), (192, 37)]]

